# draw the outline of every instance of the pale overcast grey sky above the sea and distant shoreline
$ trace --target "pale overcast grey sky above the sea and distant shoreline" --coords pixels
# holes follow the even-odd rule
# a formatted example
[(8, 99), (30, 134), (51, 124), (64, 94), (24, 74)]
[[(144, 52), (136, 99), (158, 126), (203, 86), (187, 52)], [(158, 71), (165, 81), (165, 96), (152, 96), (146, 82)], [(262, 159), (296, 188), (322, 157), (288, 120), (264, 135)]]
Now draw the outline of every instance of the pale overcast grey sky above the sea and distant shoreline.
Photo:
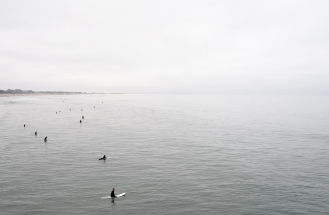
[(0, 0), (7, 88), (329, 95), (329, 1)]

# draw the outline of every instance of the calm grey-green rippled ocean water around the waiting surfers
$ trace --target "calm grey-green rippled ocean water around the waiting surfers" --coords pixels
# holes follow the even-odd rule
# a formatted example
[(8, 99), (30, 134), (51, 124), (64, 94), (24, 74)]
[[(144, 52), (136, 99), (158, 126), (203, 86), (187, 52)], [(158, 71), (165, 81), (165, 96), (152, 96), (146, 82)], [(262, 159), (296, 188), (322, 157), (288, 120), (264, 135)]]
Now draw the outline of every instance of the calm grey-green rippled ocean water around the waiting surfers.
[(1, 97), (0, 214), (328, 215), (329, 97)]

